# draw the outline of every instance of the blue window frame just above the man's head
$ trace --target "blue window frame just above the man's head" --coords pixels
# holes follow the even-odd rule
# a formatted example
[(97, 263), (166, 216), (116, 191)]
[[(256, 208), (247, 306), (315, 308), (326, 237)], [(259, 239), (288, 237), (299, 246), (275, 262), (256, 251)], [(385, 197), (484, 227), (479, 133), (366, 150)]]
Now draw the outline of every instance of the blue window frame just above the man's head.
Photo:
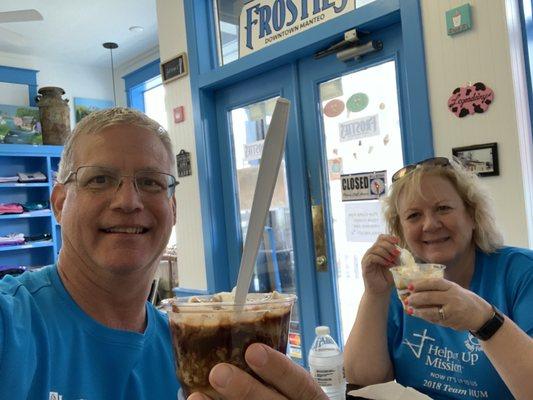
[(144, 92), (162, 84), (160, 60), (154, 60), (141, 68), (124, 75), (128, 107), (144, 112)]

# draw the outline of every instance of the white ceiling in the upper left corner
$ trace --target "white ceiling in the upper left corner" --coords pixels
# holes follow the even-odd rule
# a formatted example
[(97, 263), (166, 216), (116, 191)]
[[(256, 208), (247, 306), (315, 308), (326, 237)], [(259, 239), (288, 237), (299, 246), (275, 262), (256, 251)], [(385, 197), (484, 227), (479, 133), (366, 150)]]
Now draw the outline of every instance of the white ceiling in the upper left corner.
[[(115, 66), (158, 46), (156, 0), (0, 0), (0, 12), (36, 9), (43, 21), (0, 23), (0, 52), (108, 67), (104, 42), (116, 42)], [(129, 31), (142, 26), (142, 32)]]

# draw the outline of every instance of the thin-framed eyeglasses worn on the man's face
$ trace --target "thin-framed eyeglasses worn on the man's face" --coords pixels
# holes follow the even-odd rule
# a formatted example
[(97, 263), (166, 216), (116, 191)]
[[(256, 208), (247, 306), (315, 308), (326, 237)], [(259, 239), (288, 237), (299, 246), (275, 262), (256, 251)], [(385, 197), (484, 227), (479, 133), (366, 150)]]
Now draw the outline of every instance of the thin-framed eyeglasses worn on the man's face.
[(79, 189), (94, 193), (117, 191), (123, 178), (133, 178), (133, 184), (141, 195), (165, 194), (168, 198), (174, 195), (178, 182), (170, 174), (157, 171), (137, 171), (133, 175), (121, 175), (110, 168), (97, 166), (82, 166), (76, 171), (70, 171), (63, 184), (75, 178)]

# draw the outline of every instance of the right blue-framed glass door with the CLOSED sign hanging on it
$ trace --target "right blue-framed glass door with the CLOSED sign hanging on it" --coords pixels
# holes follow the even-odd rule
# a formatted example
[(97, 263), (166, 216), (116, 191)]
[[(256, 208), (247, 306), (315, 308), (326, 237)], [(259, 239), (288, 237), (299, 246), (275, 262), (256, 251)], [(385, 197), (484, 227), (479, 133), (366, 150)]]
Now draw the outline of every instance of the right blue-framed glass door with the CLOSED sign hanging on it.
[[(351, 177), (382, 182), (369, 193), (385, 193), (392, 174), (404, 162), (400, 113), (399, 27), (373, 34), (384, 49), (358, 62), (335, 55), (304, 59), (299, 65), (306, 158), (312, 205), (324, 209), (326, 268), (317, 271), (321, 323), (345, 343), (364, 291), (361, 259), (386, 231), (378, 199), (344, 196)], [(313, 135), (312, 132), (319, 134)], [(359, 175), (362, 174), (362, 175)], [(315, 238), (316, 242), (317, 238)]]

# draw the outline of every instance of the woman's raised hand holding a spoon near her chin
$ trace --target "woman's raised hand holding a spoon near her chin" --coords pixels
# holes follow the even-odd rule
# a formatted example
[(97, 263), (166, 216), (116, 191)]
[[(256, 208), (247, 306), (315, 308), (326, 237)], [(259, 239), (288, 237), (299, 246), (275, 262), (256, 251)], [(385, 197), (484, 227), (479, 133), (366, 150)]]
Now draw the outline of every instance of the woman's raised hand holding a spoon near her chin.
[(365, 289), (371, 294), (388, 293), (394, 284), (389, 268), (397, 264), (400, 250), (396, 247), (398, 238), (379, 235), (361, 261)]

